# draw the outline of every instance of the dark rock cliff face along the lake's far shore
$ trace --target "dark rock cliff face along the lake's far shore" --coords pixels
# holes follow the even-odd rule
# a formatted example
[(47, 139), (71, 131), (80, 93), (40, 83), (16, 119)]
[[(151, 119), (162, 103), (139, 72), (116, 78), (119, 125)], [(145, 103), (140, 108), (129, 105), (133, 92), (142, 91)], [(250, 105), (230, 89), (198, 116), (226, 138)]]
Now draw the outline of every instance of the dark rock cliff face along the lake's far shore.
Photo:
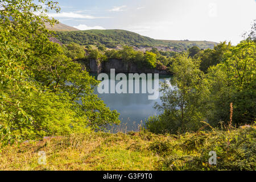
[(134, 63), (125, 63), (118, 59), (110, 59), (100, 63), (97, 60), (90, 60), (91, 73), (110, 73), (110, 69), (115, 69), (115, 73), (159, 73), (160, 75), (169, 75), (167, 71), (158, 69), (142, 68), (139, 69)]

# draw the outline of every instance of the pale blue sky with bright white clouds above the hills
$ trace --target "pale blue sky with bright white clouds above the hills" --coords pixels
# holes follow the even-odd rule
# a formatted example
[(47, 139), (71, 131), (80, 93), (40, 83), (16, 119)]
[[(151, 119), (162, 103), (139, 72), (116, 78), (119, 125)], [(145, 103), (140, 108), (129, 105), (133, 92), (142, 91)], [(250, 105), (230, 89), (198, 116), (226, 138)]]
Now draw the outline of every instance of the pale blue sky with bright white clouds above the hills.
[(231, 41), (256, 19), (256, 0), (59, 0), (48, 13), (79, 28), (122, 29), (154, 39)]

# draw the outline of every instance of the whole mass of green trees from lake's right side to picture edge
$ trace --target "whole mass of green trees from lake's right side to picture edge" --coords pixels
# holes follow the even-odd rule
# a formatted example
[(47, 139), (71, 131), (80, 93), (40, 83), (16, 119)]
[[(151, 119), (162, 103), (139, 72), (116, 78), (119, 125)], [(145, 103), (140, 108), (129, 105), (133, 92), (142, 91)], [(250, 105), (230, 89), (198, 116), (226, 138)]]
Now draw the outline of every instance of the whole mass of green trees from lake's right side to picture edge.
[(220, 43), (203, 53), (204, 59), (214, 63), (206, 74), (199, 69), (205, 60), (198, 54), (193, 59), (187, 54), (172, 57), (173, 87), (162, 85), (162, 104), (155, 105), (162, 114), (148, 118), (147, 129), (154, 133), (183, 133), (199, 129), (199, 121), (227, 125), (230, 103), (234, 106), (235, 126), (255, 121), (255, 52), (254, 41), (243, 41), (235, 47)]

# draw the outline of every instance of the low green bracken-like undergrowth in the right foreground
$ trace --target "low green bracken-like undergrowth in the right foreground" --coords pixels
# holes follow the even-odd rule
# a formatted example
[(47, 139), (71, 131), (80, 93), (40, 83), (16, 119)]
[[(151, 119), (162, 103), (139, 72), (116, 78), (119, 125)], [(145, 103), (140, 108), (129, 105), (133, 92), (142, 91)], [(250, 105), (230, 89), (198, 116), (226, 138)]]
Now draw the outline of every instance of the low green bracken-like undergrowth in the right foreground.
[[(183, 142), (172, 145), (172, 152), (163, 158), (163, 170), (255, 170), (255, 126), (233, 130), (228, 145), (227, 131), (213, 130), (210, 133), (185, 134)], [(180, 155), (180, 150), (185, 150)], [(181, 149), (182, 148), (182, 149)], [(217, 154), (217, 165), (210, 165), (209, 152)]]

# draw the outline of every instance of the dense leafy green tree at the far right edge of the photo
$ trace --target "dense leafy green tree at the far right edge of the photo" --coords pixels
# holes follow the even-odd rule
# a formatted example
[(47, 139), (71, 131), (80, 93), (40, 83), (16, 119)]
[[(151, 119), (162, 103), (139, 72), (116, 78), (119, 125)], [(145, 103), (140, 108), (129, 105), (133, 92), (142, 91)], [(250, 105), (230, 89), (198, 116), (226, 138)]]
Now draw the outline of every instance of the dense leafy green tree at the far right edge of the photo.
[(234, 106), (234, 123), (255, 120), (255, 52), (255, 42), (241, 42), (226, 53), (223, 63), (209, 69), (215, 123), (229, 121), (230, 102)]

